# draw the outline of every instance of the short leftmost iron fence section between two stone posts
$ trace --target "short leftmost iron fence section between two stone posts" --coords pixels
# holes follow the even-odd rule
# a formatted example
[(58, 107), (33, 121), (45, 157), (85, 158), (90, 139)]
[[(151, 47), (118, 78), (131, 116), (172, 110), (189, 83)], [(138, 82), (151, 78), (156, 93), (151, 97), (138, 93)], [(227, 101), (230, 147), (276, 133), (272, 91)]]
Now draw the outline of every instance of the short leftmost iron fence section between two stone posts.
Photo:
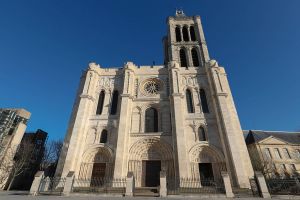
[(46, 177), (41, 180), (39, 194), (61, 195), (65, 187), (66, 178)]

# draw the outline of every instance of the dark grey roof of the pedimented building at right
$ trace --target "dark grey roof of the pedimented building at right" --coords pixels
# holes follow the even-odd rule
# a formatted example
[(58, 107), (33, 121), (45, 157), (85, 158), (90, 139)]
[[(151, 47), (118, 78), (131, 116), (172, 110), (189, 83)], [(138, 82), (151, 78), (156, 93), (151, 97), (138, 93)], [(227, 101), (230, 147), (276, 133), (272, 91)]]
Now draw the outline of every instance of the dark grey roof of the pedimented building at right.
[(249, 130), (243, 131), (246, 136), (246, 144), (260, 142), (270, 136), (284, 140), (292, 144), (300, 144), (300, 132), (287, 132), (287, 131), (262, 131), (262, 130)]

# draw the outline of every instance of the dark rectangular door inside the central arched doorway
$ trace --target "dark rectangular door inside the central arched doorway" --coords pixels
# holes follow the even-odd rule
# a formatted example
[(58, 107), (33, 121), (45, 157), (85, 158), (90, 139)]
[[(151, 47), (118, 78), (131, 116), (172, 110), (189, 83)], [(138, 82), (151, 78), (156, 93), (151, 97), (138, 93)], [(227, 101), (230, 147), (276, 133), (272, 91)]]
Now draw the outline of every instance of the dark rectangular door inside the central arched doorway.
[(160, 160), (144, 160), (143, 161), (145, 173), (145, 186), (157, 187), (159, 186), (159, 173), (161, 170)]

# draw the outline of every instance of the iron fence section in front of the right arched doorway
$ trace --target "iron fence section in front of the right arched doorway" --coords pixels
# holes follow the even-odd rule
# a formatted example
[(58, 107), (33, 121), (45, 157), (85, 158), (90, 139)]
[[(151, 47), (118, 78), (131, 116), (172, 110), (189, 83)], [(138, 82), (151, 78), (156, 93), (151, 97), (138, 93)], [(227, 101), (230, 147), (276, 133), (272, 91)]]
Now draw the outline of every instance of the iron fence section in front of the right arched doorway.
[(169, 195), (184, 193), (222, 194), (225, 193), (225, 189), (222, 180), (181, 178), (177, 184), (174, 180), (168, 181)]

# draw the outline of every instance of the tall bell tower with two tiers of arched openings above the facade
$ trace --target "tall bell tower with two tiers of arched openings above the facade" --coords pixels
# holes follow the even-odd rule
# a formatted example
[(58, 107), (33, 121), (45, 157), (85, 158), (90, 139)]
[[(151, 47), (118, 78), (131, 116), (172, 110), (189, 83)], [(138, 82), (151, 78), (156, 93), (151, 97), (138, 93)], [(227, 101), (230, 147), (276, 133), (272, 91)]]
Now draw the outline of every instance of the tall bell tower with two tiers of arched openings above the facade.
[(200, 16), (188, 17), (182, 10), (167, 19), (164, 38), (165, 63), (177, 61), (180, 67), (203, 67), (209, 61)]

